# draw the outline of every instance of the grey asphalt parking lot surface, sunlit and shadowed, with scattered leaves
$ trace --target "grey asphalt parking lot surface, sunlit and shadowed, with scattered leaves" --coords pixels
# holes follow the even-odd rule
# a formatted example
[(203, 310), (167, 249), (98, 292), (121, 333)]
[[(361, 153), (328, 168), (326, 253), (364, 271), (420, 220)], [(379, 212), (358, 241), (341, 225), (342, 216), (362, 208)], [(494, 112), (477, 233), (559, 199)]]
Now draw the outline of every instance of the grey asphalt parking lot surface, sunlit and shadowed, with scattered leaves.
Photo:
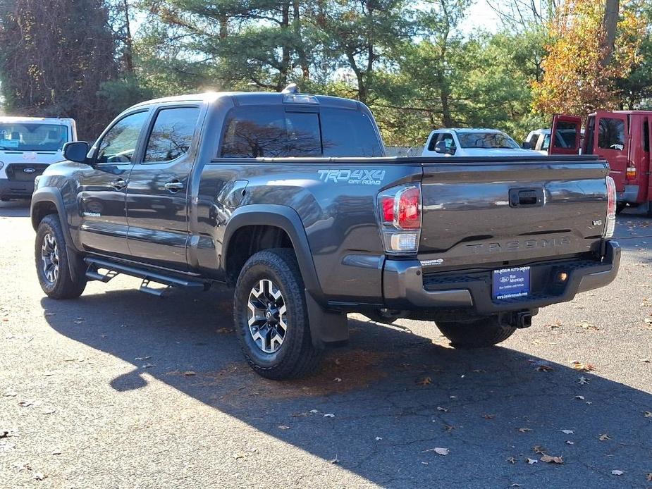
[(350, 315), (319, 374), (278, 383), (228, 290), (44, 297), (26, 205), (0, 204), (0, 487), (652, 488), (652, 219), (619, 216), (615, 283), (499, 347)]

